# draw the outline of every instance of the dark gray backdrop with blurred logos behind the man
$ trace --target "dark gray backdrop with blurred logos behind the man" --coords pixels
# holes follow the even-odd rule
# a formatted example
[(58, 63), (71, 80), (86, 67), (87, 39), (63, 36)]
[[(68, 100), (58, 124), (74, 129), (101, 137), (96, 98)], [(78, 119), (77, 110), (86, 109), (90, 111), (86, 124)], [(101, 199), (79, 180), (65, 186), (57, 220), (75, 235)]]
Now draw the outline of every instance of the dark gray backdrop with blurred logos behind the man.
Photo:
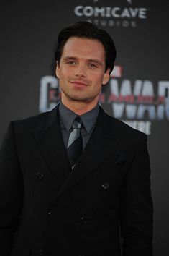
[(48, 111), (59, 101), (54, 51), (63, 26), (88, 20), (114, 38), (116, 67), (100, 103), (148, 135), (155, 256), (169, 255), (168, 9), (167, 0), (16, 0), (0, 8), (0, 141), (9, 121)]

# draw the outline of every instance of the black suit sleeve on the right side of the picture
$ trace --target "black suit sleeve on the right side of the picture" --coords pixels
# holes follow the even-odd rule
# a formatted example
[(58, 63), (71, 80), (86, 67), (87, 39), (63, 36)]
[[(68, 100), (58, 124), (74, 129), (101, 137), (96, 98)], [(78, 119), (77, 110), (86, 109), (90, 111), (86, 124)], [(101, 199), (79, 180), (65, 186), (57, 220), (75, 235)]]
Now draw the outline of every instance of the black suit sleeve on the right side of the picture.
[(121, 195), (123, 256), (152, 256), (152, 214), (147, 136), (142, 135)]

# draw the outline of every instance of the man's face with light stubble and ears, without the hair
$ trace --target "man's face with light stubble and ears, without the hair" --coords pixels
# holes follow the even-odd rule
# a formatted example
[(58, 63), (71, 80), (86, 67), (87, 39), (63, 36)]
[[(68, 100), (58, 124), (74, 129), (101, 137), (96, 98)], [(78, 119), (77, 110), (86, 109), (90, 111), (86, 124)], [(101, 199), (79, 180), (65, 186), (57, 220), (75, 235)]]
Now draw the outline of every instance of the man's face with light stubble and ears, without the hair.
[(65, 43), (56, 75), (62, 90), (62, 102), (96, 105), (101, 86), (109, 81), (105, 72), (104, 46), (98, 40), (71, 37)]

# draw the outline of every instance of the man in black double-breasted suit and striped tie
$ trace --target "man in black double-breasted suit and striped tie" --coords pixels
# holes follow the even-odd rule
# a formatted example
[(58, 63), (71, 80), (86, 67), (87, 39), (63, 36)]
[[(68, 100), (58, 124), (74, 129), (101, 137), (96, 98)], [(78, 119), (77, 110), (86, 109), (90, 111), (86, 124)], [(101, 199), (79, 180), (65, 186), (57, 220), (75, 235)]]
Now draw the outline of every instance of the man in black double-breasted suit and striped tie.
[(1, 148), (0, 255), (152, 256), (147, 137), (98, 105), (114, 42), (76, 22), (55, 56), (60, 104), (9, 124)]

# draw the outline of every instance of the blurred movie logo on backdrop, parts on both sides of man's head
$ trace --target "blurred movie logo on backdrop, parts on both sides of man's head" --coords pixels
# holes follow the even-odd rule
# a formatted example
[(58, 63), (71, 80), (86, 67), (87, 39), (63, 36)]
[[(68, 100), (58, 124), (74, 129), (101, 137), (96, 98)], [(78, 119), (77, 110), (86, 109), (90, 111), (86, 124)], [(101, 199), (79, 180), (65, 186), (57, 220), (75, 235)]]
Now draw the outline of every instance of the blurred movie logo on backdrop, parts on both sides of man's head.
[[(130, 80), (123, 77), (123, 69), (114, 67), (106, 90), (99, 95), (99, 103), (111, 116), (150, 135), (152, 121), (169, 120), (169, 81)], [(42, 77), (39, 111), (54, 108), (60, 94), (56, 77)]]

